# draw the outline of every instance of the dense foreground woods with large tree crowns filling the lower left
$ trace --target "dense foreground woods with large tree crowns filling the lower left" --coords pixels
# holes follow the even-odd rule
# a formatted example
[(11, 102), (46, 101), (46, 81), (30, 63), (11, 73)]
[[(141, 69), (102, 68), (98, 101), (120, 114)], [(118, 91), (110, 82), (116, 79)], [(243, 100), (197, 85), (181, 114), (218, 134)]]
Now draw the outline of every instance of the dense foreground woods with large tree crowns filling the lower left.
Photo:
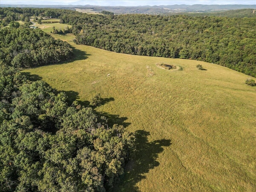
[(0, 78), (1, 192), (112, 188), (134, 150), (133, 134), (108, 127), (92, 108), (68, 106), (64, 92), (14, 68), (2, 68)]

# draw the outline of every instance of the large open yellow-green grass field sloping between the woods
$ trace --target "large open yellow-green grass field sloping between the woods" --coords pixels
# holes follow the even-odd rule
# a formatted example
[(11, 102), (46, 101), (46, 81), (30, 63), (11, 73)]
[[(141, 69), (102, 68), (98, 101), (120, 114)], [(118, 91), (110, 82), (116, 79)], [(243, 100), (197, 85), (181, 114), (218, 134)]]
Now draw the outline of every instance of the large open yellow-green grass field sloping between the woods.
[[(256, 87), (245, 74), (195, 60), (120, 54), (68, 41), (76, 58), (26, 69), (137, 136), (115, 191), (256, 191)], [(181, 66), (164, 70), (156, 63)], [(201, 64), (206, 70), (198, 70)], [(108, 74), (110, 74), (108, 76)], [(255, 80), (255, 78), (252, 78)]]

